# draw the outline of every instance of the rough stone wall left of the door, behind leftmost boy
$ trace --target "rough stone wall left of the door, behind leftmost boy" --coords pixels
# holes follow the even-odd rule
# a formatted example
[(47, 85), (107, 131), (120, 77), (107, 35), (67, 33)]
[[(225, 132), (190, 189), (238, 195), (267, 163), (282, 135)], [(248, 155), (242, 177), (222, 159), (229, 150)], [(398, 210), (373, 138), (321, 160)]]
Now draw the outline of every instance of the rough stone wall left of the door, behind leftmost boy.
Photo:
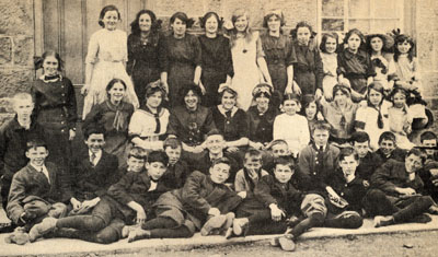
[(9, 98), (34, 78), (32, 0), (0, 0), (0, 124), (11, 116)]

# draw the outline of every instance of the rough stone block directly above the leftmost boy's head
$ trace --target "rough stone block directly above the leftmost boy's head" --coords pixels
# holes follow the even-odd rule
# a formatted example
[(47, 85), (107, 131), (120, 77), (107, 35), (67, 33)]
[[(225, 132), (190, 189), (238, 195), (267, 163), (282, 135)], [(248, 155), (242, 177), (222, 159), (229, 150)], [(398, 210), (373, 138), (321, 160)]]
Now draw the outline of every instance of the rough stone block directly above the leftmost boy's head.
[(0, 97), (30, 91), (33, 80), (33, 69), (0, 69)]

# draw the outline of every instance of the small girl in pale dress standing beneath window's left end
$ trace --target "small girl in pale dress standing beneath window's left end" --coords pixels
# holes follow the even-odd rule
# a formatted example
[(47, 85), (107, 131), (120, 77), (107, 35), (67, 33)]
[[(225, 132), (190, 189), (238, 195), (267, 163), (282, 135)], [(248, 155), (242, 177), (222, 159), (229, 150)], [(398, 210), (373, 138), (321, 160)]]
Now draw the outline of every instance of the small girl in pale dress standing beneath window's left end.
[(327, 102), (333, 100), (333, 87), (337, 84), (337, 34), (324, 34), (320, 44), (320, 55), (324, 68), (324, 79), (322, 80), (322, 91)]

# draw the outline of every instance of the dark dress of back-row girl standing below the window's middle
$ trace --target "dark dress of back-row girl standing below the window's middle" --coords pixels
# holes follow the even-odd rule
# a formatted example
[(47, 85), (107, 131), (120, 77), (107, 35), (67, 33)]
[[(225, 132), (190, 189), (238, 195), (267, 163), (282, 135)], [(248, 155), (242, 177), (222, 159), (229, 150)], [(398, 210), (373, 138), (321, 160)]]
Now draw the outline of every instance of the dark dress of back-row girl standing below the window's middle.
[(348, 79), (354, 91), (365, 94), (367, 79), (376, 72), (368, 52), (359, 49), (353, 54), (346, 48), (337, 55), (337, 74)]

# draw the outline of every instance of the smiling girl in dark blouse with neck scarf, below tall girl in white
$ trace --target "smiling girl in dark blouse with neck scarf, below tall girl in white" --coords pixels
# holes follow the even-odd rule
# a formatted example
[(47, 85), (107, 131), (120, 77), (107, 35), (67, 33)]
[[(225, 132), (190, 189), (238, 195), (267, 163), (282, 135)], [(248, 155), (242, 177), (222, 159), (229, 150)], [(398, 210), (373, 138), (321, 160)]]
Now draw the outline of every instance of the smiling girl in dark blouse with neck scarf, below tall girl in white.
[(94, 105), (83, 121), (83, 129), (89, 126), (101, 126), (105, 129), (104, 150), (118, 157), (120, 165), (126, 163), (125, 153), (128, 144), (128, 124), (134, 106), (123, 101), (126, 95), (126, 83), (113, 79), (106, 86), (107, 100)]

